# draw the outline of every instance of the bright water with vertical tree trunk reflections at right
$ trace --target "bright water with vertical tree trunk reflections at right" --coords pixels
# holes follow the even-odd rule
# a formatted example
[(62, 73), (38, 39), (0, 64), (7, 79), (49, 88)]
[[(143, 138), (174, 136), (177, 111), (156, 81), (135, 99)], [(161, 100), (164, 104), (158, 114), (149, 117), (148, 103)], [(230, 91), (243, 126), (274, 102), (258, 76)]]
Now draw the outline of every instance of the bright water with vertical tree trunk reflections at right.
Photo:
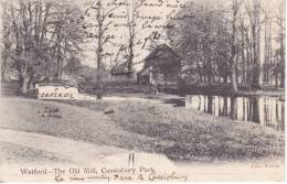
[(275, 97), (187, 96), (185, 107), (284, 130), (284, 101)]

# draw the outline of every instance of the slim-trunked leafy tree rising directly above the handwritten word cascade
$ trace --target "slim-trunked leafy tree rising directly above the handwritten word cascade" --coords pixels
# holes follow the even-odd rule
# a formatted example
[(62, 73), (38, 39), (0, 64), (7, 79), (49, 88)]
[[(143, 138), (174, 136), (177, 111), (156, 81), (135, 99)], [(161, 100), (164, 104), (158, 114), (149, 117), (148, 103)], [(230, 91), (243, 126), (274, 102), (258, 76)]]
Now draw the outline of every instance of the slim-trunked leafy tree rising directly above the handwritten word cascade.
[(56, 61), (55, 77), (62, 78), (62, 69), (65, 61), (71, 59), (74, 55), (82, 52), (81, 44), (84, 40), (83, 23), (79, 21), (82, 12), (73, 6), (66, 3), (57, 3), (55, 13), (52, 17), (54, 29), (53, 40), (53, 57)]

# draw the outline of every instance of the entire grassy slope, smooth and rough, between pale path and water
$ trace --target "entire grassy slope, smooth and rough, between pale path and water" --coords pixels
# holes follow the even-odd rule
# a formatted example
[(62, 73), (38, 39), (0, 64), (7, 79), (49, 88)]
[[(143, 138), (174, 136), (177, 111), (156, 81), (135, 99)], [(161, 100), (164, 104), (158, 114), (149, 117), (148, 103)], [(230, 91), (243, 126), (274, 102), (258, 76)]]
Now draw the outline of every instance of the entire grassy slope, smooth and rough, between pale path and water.
[[(193, 162), (284, 158), (284, 133), (251, 122), (135, 100), (2, 100), (0, 128), (62, 137)], [(53, 109), (60, 112), (46, 113)], [(52, 109), (52, 110), (51, 110)], [(11, 115), (13, 113), (13, 115)]]

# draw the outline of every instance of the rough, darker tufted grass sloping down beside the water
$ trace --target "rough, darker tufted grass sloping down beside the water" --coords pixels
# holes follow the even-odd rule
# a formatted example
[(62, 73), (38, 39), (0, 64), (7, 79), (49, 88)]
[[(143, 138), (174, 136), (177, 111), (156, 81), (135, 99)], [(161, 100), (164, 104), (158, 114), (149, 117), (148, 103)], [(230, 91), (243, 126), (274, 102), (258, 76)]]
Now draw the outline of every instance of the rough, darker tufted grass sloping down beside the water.
[(252, 122), (236, 123), (167, 104), (131, 100), (72, 104), (103, 111), (127, 132), (156, 140), (132, 149), (163, 153), (174, 160), (210, 162), (284, 155), (284, 134)]

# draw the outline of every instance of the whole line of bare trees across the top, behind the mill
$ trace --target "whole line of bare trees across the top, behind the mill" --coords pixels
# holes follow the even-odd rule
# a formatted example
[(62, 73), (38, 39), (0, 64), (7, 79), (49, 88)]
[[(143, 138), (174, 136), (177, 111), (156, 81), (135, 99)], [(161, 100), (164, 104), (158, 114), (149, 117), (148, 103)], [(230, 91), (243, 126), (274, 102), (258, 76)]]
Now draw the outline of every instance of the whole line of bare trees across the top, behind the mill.
[[(155, 48), (164, 39), (181, 55), (180, 75), (187, 82), (231, 83), (235, 93), (237, 85), (258, 89), (261, 82), (284, 87), (284, 1), (274, 11), (265, 10), (263, 0), (230, 0), (228, 6), (191, 3), (193, 0), (187, 4), (174, 0), (173, 6), (168, 6), (167, 0), (150, 2), (179, 9), (177, 14), (169, 14), (174, 19), (168, 19), (167, 25), (157, 25), (156, 20), (142, 14), (150, 6), (146, 0), (109, 1), (84, 1), (81, 7), (68, 0), (2, 1), (1, 79), (13, 68), (19, 91), (29, 94), (35, 82), (60, 79), (65, 67), (77, 65), (83, 44), (89, 39), (95, 46), (96, 69), (93, 77), (83, 78), (88, 78), (85, 84), (95, 80), (100, 98), (108, 65), (117, 66), (124, 61), (125, 75), (131, 78), (138, 48), (142, 51), (147, 44)], [(119, 8), (121, 21), (115, 21)], [(114, 43), (110, 28), (121, 23), (126, 24), (125, 41)], [(149, 36), (142, 36), (145, 23), (156, 24), (167, 36), (151, 29)]]

